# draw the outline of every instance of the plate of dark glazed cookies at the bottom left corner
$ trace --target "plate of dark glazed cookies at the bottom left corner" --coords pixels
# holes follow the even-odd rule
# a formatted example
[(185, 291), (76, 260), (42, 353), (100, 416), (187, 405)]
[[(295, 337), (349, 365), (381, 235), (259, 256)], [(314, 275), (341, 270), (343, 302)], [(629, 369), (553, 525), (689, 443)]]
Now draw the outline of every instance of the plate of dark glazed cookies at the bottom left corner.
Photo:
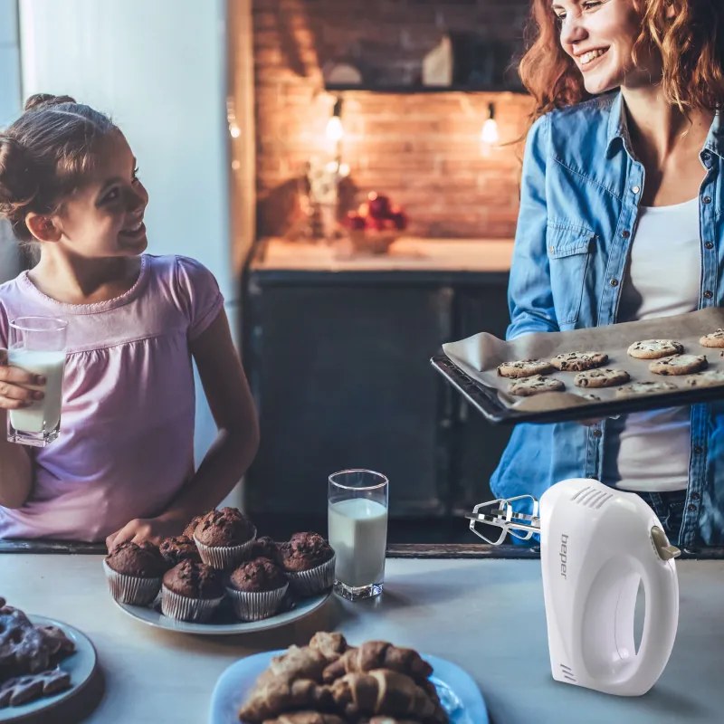
[(0, 598), (0, 722), (22, 721), (78, 694), (96, 668), (90, 639)]

